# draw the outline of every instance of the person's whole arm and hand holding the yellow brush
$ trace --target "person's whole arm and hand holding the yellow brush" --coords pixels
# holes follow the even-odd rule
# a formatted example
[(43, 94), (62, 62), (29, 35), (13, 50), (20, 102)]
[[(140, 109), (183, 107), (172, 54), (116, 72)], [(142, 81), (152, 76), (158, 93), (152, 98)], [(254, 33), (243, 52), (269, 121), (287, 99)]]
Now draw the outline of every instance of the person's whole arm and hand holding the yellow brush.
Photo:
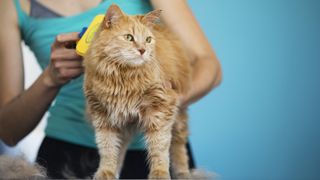
[(0, 1), (0, 139), (16, 145), (31, 132), (49, 108), (60, 87), (82, 73), (81, 58), (66, 42), (77, 33), (60, 35), (51, 61), (30, 88), (24, 90), (21, 37), (13, 1)]

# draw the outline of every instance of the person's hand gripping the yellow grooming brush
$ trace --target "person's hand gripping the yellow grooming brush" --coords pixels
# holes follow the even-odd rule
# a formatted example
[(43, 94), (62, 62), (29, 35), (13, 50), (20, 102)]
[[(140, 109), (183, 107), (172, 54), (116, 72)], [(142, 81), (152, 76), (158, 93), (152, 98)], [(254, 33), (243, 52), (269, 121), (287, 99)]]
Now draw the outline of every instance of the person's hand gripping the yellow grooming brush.
[(50, 63), (44, 71), (45, 83), (49, 87), (60, 87), (83, 73), (83, 59), (74, 49), (78, 34), (60, 34), (52, 44)]

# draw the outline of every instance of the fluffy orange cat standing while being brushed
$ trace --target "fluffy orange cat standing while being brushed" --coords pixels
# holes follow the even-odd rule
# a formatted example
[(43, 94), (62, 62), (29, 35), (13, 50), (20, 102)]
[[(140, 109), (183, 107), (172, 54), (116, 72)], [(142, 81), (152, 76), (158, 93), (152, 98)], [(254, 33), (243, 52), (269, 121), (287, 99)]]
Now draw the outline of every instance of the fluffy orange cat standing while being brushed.
[(118, 176), (137, 131), (145, 134), (149, 178), (169, 179), (170, 162), (175, 177), (190, 177), (187, 114), (178, 98), (189, 89), (190, 62), (177, 38), (157, 23), (160, 12), (128, 16), (111, 5), (85, 55), (84, 90), (100, 153), (97, 179)]

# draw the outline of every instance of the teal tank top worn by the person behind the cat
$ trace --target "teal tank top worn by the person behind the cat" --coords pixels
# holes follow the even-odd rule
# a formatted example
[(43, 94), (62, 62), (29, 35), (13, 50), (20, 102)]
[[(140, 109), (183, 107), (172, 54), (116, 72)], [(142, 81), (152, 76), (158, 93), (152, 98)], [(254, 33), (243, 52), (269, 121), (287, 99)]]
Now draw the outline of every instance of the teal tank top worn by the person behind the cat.
[[(152, 10), (148, 0), (105, 0), (97, 7), (78, 15), (35, 19), (21, 9), (19, 0), (14, 2), (21, 37), (34, 52), (42, 70), (49, 64), (50, 47), (58, 34), (81, 31), (97, 14), (105, 14), (111, 4), (119, 5), (127, 14), (145, 14)], [(49, 108), (45, 134), (52, 138), (95, 148), (94, 130), (86, 119), (82, 84), (83, 76), (80, 76), (61, 88)], [(141, 136), (137, 135), (130, 149), (144, 148)]]

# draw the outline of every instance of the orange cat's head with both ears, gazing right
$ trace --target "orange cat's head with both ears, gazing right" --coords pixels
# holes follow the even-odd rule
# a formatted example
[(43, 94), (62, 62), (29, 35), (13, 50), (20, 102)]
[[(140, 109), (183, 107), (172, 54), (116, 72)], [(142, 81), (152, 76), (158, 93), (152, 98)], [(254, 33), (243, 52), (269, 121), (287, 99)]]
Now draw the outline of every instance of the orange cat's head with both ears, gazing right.
[(156, 39), (151, 32), (151, 23), (159, 17), (150, 16), (127, 16), (118, 6), (112, 5), (100, 34), (107, 42), (104, 53), (113, 61), (129, 66), (152, 61)]

